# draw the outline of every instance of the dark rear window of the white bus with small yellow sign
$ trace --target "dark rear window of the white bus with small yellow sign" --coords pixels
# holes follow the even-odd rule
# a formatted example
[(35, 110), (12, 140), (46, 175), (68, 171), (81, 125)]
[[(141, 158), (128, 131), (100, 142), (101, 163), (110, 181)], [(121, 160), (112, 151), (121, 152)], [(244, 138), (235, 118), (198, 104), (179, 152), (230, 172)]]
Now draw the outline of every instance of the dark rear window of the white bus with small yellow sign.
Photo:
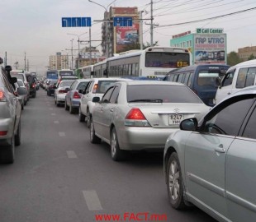
[(145, 67), (187, 67), (189, 61), (189, 53), (148, 52), (145, 55)]

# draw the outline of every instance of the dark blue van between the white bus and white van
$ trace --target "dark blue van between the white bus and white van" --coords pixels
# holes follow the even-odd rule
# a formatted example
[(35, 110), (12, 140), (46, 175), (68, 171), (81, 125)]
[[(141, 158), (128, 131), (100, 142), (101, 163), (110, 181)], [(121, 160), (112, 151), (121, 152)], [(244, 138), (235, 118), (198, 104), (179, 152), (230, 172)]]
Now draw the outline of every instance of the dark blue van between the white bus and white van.
[(225, 75), (230, 66), (221, 64), (197, 64), (168, 72), (164, 81), (181, 82), (188, 86), (208, 106), (214, 106), (217, 80)]

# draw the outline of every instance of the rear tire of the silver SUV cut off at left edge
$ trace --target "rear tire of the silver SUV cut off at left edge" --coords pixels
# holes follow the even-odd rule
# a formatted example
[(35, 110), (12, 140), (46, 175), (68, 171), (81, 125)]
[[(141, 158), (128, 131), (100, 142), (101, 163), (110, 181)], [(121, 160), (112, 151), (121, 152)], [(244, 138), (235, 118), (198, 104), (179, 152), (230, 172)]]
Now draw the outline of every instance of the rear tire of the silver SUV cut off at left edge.
[(15, 159), (15, 146), (14, 146), (14, 132), (11, 139), (11, 144), (1, 147), (0, 149), (0, 163), (13, 164)]

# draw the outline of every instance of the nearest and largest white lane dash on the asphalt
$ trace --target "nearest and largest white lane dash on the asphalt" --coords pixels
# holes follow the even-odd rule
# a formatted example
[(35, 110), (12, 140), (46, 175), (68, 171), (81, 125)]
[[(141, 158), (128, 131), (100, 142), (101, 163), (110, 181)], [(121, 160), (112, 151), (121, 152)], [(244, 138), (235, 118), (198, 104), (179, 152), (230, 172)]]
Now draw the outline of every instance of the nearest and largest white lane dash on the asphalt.
[(97, 197), (95, 190), (83, 191), (83, 197), (88, 206), (88, 210), (103, 210), (101, 201)]

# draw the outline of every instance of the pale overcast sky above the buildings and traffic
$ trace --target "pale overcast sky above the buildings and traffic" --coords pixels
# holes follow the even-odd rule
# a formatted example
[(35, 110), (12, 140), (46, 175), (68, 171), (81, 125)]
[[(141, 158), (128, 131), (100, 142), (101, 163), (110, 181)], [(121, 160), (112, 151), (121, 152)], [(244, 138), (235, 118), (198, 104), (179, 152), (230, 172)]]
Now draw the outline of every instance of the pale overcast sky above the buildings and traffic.
[[(107, 7), (113, 0), (94, 0)], [(150, 0), (116, 0), (112, 7), (138, 7), (143, 18), (150, 16)], [(254, 9), (255, 7), (255, 9)], [(24, 67), (24, 55), (31, 71), (41, 72), (49, 64), (49, 56), (65, 49), (78, 48), (78, 37), (88, 40), (88, 28), (63, 28), (62, 17), (92, 17), (101, 20), (105, 9), (88, 0), (0, 0), (0, 57), (7, 52), (7, 63)], [(248, 12), (207, 21), (173, 25), (188, 21), (227, 15), (247, 9)], [(227, 34), (227, 51), (256, 45), (255, 0), (154, 0), (154, 41), (169, 46), (172, 35), (196, 28), (223, 28)], [(145, 21), (149, 23), (149, 21)], [(101, 22), (92, 22), (92, 39), (101, 39)], [(161, 27), (161, 25), (170, 25)], [(150, 42), (149, 25), (143, 26), (144, 42)], [(67, 35), (67, 33), (74, 35)], [(92, 46), (100, 42), (92, 42)], [(84, 45), (80, 44), (80, 48)], [(101, 50), (100, 46), (98, 49)]]

